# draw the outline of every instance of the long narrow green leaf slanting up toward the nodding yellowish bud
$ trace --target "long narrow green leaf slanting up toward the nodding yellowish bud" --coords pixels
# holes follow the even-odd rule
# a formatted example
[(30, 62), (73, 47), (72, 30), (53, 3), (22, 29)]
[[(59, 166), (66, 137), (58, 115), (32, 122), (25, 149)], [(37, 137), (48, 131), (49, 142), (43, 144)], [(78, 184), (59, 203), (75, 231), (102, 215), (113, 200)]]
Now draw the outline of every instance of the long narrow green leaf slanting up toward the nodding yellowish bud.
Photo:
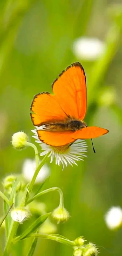
[(27, 236), (29, 236), (31, 233), (33, 233), (38, 227), (45, 222), (45, 220), (48, 218), (48, 216), (51, 215), (51, 212), (46, 213), (45, 215), (41, 215), (35, 222), (32, 223), (31, 226), (28, 227), (20, 236), (17, 236), (14, 239), (14, 242), (17, 242), (19, 240), (25, 239)]

